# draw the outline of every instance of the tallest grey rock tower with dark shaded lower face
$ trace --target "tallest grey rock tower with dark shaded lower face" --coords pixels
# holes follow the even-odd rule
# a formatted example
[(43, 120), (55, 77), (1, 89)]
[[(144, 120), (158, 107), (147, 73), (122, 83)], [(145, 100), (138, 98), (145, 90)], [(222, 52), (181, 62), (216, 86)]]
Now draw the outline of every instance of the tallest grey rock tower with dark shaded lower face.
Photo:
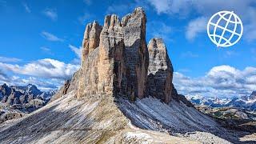
[(146, 94), (148, 50), (146, 47), (146, 14), (141, 7), (122, 18), (126, 46), (127, 93), (132, 98)]

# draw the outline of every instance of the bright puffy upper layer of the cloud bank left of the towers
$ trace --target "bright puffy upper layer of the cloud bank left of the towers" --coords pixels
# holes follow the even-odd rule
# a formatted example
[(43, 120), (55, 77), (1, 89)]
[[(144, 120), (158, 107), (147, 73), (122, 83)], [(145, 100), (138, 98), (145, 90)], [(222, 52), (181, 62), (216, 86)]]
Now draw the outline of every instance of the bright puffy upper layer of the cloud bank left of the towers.
[(66, 64), (50, 58), (40, 59), (23, 66), (0, 62), (1, 70), (38, 78), (67, 79), (70, 78), (78, 68), (78, 65)]

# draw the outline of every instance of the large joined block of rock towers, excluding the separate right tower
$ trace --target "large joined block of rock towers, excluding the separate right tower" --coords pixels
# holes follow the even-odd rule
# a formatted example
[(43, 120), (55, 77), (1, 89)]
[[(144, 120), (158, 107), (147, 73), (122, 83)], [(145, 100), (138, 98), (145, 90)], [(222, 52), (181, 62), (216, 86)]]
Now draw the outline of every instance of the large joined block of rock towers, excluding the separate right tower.
[(135, 9), (122, 21), (115, 14), (107, 15), (103, 27), (94, 22), (94, 31), (101, 30), (101, 34), (91, 47), (88, 39), (97, 38), (98, 33), (88, 34), (90, 27), (91, 24), (86, 26), (84, 36), (87, 40), (83, 42), (78, 98), (101, 93), (143, 98), (148, 52), (146, 15), (142, 8)]

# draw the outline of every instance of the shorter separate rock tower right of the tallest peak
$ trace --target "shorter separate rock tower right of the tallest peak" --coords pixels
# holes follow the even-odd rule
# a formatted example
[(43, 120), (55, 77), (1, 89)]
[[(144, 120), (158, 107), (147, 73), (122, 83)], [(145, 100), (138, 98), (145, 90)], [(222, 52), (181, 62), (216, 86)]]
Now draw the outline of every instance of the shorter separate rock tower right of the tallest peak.
[(148, 45), (149, 68), (147, 95), (170, 102), (172, 92), (173, 66), (168, 57), (166, 46), (161, 38), (153, 38)]

